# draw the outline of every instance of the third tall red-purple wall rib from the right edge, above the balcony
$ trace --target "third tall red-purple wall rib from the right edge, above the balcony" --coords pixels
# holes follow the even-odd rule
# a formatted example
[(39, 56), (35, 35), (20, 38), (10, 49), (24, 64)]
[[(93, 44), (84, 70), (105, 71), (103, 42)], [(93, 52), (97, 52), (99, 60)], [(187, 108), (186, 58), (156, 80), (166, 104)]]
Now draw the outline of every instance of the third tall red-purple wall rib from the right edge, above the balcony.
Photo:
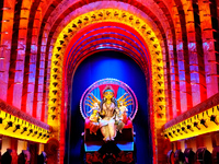
[[(185, 3), (185, 5), (184, 5)], [(177, 36), (177, 57), (178, 57), (178, 75), (180, 75), (180, 96), (181, 96), (181, 112), (185, 112), (193, 107), (191, 74), (189, 74), (189, 56), (188, 56), (188, 40), (187, 40), (187, 3), (184, 0), (177, 1), (175, 4), (175, 14), (178, 19), (175, 20), (176, 36)]]

